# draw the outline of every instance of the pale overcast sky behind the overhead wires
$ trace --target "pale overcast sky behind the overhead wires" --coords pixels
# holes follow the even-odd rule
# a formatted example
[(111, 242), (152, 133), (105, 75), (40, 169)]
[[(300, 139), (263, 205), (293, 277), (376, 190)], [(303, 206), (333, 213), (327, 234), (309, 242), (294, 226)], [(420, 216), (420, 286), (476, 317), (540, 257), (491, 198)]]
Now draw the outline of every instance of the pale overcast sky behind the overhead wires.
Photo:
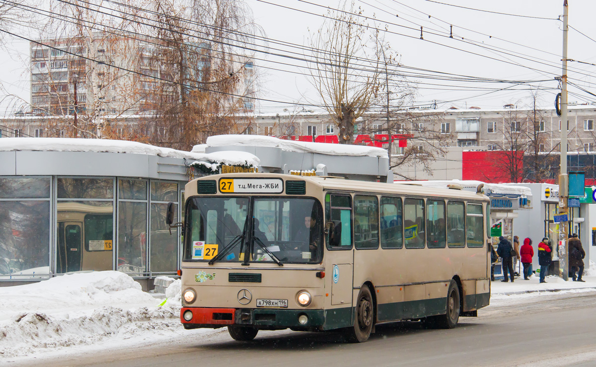
[[(313, 4), (299, 0), (264, 1), (296, 9), (281, 8), (257, 0), (246, 0), (246, 4), (253, 10), (256, 23), (262, 27), (268, 38), (297, 45), (308, 45), (309, 29), (314, 32), (324, 21), (324, 18), (318, 15), (306, 14), (298, 10), (322, 15), (326, 14), (327, 10), (315, 4), (339, 7), (337, 0), (309, 0)], [(364, 15), (377, 18), (377, 26), (383, 29), (387, 27), (389, 32), (385, 32), (386, 41), (399, 52), (400, 62), (404, 66), (499, 80), (547, 80), (532, 84), (544, 89), (539, 92), (541, 105), (547, 107), (552, 105), (557, 93), (554, 88), (558, 86), (554, 77), (561, 74), (560, 55), (563, 32), (561, 32), (562, 22), (556, 19), (563, 14), (563, 0), (445, 0), (439, 2), (460, 7), (428, 0), (355, 0), (356, 6), (364, 10)], [(594, 41), (596, 29), (593, 20), (596, 14), (596, 1), (569, 0), (569, 3), (569, 25), (577, 30), (569, 31), (569, 58), (596, 64), (596, 41)], [(454, 38), (452, 39), (444, 33), (449, 32), (449, 25), (453, 26)], [(420, 26), (424, 27), (424, 41), (420, 39)], [(0, 56), (2, 68), (0, 81), (10, 94), (18, 95), (28, 101), (29, 74), (25, 71), (25, 65), (28, 62), (29, 45), (25, 41), (7, 38), (5, 41), (10, 52), (2, 52)], [(274, 42), (269, 42), (268, 46), (267, 51), (274, 53), (288, 54), (290, 51), (297, 51), (290, 46), (280, 46)], [(255, 58), (257, 59), (255, 64), (260, 67), (259, 71), (263, 75), (259, 97), (281, 102), (262, 101), (258, 110), (263, 113), (281, 113), (284, 108), (287, 110), (302, 108), (293, 106), (296, 102), (318, 103), (308, 77), (297, 74), (308, 74), (308, 71), (303, 69), (304, 64), (301, 61), (262, 52), (257, 52)], [(284, 65), (280, 62), (292, 65)], [(569, 67), (570, 81), (596, 94), (596, 80), (591, 77), (596, 66), (572, 62), (569, 63)], [(438, 107), (454, 105), (460, 108), (476, 106), (485, 109), (500, 108), (508, 103), (522, 106), (530, 102), (529, 91), (511, 91), (511, 89), (527, 89), (528, 86), (421, 78), (409, 80), (420, 83), (415, 102), (417, 105), (431, 105), (436, 101)], [(508, 89), (495, 92), (496, 89), (501, 88)], [(596, 97), (580, 91), (575, 86), (570, 88), (570, 92), (579, 94), (579, 96), (570, 95), (571, 102), (596, 101)], [(1, 107), (6, 110), (10, 105), (7, 100), (4, 100)], [(306, 106), (305, 109), (312, 109), (312, 107)]]

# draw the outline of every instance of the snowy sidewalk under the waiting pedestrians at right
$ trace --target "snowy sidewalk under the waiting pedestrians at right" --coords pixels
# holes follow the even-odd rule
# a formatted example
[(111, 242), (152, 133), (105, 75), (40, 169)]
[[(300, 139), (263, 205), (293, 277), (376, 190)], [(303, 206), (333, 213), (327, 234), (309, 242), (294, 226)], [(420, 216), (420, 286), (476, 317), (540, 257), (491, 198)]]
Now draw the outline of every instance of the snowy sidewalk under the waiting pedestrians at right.
[(511, 296), (513, 294), (558, 292), (565, 290), (589, 290), (596, 291), (596, 276), (584, 276), (585, 282), (564, 281), (558, 276), (547, 276), (546, 283), (540, 283), (537, 275), (532, 275), (530, 280), (524, 280), (523, 276), (515, 278), (515, 282), (501, 282), (499, 279), (491, 282), (491, 296)]

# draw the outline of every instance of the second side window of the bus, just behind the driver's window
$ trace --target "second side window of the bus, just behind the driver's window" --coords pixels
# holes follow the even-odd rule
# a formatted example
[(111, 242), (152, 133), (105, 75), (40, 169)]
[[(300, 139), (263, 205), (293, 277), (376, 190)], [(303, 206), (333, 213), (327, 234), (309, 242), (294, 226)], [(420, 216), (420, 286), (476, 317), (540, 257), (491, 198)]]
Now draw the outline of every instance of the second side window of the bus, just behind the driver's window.
[(378, 199), (354, 196), (354, 244), (359, 250), (378, 248)]

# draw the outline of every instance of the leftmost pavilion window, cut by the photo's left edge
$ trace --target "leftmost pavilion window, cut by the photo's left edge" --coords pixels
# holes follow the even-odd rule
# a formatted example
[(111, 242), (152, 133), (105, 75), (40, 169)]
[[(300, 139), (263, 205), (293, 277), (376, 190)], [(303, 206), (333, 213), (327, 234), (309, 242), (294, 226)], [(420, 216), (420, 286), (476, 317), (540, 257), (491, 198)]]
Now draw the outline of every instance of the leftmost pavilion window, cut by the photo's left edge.
[(0, 178), (0, 275), (49, 275), (49, 186), (49, 178)]

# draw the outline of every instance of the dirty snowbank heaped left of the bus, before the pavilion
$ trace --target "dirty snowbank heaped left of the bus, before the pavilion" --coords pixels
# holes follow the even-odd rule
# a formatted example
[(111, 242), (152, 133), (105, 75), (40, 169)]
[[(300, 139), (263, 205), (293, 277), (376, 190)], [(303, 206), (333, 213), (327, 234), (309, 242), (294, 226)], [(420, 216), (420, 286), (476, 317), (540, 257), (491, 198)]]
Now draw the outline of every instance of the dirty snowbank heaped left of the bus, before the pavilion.
[[(0, 288), (0, 360), (119, 335), (181, 328), (179, 303), (144, 293), (125, 273), (74, 273)], [(1, 363), (0, 363), (1, 364)]]

